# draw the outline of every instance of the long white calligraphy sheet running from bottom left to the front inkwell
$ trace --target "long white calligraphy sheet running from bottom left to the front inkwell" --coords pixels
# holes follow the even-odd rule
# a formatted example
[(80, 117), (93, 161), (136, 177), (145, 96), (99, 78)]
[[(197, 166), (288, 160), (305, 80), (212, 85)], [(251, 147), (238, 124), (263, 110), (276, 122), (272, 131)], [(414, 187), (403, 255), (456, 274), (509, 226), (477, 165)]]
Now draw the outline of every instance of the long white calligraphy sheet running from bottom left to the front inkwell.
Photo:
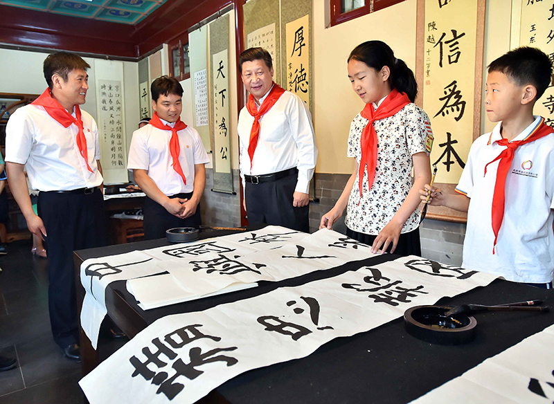
[(468, 291), (494, 279), (431, 263), (402, 257), (205, 311), (169, 315), (79, 384), (91, 404), (195, 403), (244, 371), (303, 358), (334, 338), (398, 318), (410, 306), (434, 304), (445, 292)]

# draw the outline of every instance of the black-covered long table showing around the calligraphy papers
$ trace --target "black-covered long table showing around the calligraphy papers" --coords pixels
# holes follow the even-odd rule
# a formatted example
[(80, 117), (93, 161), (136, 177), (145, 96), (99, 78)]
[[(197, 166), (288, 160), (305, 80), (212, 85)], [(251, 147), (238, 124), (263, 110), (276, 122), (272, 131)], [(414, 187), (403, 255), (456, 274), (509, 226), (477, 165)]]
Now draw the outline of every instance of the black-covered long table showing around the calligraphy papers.
[[(208, 231), (202, 232), (201, 237), (225, 234), (229, 233)], [(165, 239), (159, 239), (75, 251), (75, 270), (79, 273), (80, 264), (85, 259), (167, 244)], [(393, 258), (395, 256), (383, 255), (367, 259), (366, 264), (375, 265)], [(132, 338), (165, 315), (205, 310), (279, 287), (297, 286), (336, 276), (352, 268), (345, 264), (283, 282), (260, 282), (257, 288), (149, 311), (143, 311), (137, 306), (134, 297), (127, 292), (124, 281), (116, 281), (106, 289), (106, 305), (110, 318)], [(82, 295), (80, 299), (82, 302)], [(500, 279), (484, 288), (475, 288), (454, 298), (443, 298), (439, 303), (502, 304), (533, 299), (544, 300), (545, 304), (554, 307), (554, 291)], [(413, 338), (405, 331), (403, 320), (398, 318), (377, 329), (332, 340), (306, 358), (247, 371), (218, 387), (202, 402), (407, 403), (554, 324), (553, 312), (489, 312), (474, 317), (478, 322), (476, 338), (465, 345), (431, 345)], [(81, 350), (83, 374), (87, 374), (98, 365), (98, 353), (84, 335), (81, 338)]]

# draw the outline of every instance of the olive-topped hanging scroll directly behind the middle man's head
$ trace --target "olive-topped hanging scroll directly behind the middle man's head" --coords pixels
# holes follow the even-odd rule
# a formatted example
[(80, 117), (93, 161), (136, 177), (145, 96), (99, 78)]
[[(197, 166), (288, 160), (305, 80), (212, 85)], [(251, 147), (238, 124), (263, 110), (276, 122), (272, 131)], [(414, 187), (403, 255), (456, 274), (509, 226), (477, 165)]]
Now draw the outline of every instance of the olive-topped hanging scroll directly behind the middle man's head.
[[(285, 87), (281, 82), (279, 3), (279, 0), (249, 0), (242, 6), (242, 12), (244, 13), (244, 33), (247, 37), (247, 46), (274, 48), (274, 53), (270, 52), (275, 72), (273, 78), (277, 84)], [(265, 37), (260, 36), (262, 34), (265, 34)], [(267, 39), (268, 37), (269, 39)], [(269, 42), (264, 44), (264, 40), (269, 40)]]

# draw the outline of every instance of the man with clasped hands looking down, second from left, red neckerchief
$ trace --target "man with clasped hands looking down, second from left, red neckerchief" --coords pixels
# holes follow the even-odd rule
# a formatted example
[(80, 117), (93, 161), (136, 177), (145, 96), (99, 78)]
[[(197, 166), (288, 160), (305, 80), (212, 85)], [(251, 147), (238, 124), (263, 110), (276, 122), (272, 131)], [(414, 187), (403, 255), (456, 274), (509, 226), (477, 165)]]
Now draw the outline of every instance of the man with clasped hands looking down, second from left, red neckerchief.
[(158, 77), (151, 93), (154, 116), (134, 131), (127, 169), (147, 196), (145, 238), (159, 239), (170, 228), (199, 228), (204, 164), (210, 160), (196, 129), (181, 121), (183, 88), (177, 79)]

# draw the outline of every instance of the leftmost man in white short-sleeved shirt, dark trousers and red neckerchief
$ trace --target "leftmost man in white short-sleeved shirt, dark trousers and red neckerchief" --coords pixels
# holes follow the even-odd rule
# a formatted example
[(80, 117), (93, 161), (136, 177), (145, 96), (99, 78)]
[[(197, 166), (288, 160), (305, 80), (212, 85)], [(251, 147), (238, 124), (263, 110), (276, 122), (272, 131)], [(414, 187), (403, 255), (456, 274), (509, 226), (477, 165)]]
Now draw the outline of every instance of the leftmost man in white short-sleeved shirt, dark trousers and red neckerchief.
[[(6, 127), (10, 190), (33, 234), (48, 240), (48, 308), (64, 356), (79, 360), (73, 250), (105, 245), (102, 167), (96, 122), (84, 104), (87, 62), (58, 52), (44, 60), (48, 88), (13, 113)], [(24, 168), (39, 190), (33, 212)]]

